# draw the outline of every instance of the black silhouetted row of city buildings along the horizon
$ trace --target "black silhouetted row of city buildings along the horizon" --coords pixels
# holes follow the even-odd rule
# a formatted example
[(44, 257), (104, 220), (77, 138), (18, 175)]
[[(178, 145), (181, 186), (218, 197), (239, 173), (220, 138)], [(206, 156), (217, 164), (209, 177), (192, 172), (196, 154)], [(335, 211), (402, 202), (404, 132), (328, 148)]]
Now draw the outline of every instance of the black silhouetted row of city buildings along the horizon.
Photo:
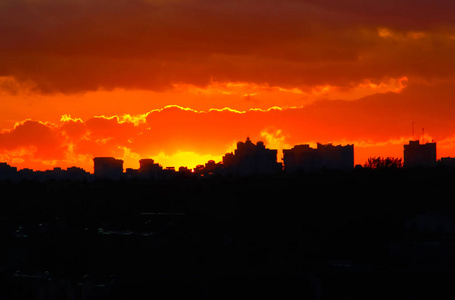
[[(131, 168), (124, 166), (122, 159), (110, 156), (99, 156), (92, 159), (91, 170), (80, 166), (66, 168), (54, 167), (47, 170), (33, 170), (30, 168), (18, 169), (9, 165), (7, 162), (0, 162), (0, 179), (8, 179), (19, 176), (22, 179), (40, 178), (41, 180), (88, 179), (88, 175), (94, 178), (104, 178), (109, 180), (119, 180), (123, 176), (126, 178), (138, 179), (171, 179), (171, 173), (179, 172), (183, 175), (194, 173), (218, 174), (229, 176), (252, 176), (252, 175), (277, 175), (279, 173), (315, 173), (320, 171), (352, 171), (355, 168), (376, 168), (374, 161), (381, 160), (399, 162), (396, 167), (405, 168), (434, 168), (440, 166), (453, 169), (455, 158), (441, 157), (437, 159), (437, 147), (435, 142), (421, 143), (420, 140), (410, 140), (403, 146), (403, 157), (373, 157), (370, 156), (363, 164), (355, 164), (354, 144), (333, 145), (333, 143), (317, 143), (316, 147), (309, 144), (294, 145), (290, 149), (283, 149), (282, 157), (278, 156), (277, 149), (269, 149), (263, 141), (255, 144), (249, 137), (245, 142), (238, 141), (234, 151), (225, 153), (220, 161), (208, 160), (194, 168), (188, 166), (162, 166), (153, 158), (141, 158), (138, 160), (139, 167)], [(385, 166), (385, 165), (384, 165)], [(384, 167), (383, 166), (383, 167)], [(390, 166), (389, 166), (390, 167)], [(19, 173), (18, 173), (19, 172)], [(36, 176), (35, 176), (36, 175)], [(93, 178), (92, 178), (93, 179)]]

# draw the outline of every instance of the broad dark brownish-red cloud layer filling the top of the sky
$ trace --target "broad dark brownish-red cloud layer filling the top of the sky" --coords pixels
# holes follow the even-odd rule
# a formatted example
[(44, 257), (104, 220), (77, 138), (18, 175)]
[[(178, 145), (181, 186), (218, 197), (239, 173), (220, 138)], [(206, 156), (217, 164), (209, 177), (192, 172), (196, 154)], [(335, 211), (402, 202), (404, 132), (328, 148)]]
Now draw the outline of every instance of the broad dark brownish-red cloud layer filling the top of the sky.
[[(41, 92), (247, 81), (344, 86), (454, 76), (449, 1), (57, 1), (0, 4), (0, 76)], [(390, 30), (381, 37), (378, 28)], [(413, 38), (421, 31), (424, 36)]]

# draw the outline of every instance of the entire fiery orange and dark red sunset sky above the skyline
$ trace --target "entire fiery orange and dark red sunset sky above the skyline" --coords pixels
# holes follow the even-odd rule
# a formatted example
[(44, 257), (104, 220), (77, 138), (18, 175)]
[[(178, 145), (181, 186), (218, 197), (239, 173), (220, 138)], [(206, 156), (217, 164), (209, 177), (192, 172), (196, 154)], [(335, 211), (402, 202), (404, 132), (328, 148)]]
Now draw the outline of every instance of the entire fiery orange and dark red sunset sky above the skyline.
[(356, 164), (411, 139), (455, 157), (452, 0), (1, 0), (0, 37), (0, 162), (18, 169), (193, 168), (247, 136), (354, 144)]

